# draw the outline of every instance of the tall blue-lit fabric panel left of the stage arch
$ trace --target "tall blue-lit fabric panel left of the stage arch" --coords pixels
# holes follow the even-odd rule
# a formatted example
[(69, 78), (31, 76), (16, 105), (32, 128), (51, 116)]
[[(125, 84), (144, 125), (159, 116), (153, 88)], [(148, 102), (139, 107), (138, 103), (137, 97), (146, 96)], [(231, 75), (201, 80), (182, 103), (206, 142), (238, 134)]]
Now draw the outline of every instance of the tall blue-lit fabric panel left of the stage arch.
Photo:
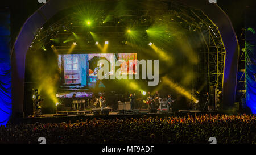
[(0, 125), (11, 116), (10, 12), (0, 10)]

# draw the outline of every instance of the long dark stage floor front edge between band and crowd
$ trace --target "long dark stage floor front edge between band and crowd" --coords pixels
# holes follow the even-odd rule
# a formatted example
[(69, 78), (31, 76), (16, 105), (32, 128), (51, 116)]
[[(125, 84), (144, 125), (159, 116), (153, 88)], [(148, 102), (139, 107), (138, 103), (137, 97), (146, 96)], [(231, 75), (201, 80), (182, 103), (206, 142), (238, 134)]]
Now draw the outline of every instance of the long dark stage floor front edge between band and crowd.
[(137, 112), (127, 112), (126, 114), (119, 114), (118, 112), (109, 112), (108, 115), (106, 114), (86, 114), (86, 111), (79, 111), (76, 114), (73, 112), (68, 112), (66, 114), (43, 114), (41, 117), (35, 118), (19, 118), (15, 122), (16, 123), (60, 123), (60, 122), (76, 122), (76, 120), (86, 120), (86, 119), (127, 119), (127, 118), (143, 118), (144, 116), (153, 117), (164, 119), (165, 117), (171, 116), (186, 116), (186, 115), (203, 115), (203, 114), (226, 114), (226, 115), (236, 115), (237, 113), (230, 112), (230, 111), (198, 111), (198, 110), (179, 110), (177, 112), (157, 112), (157, 113), (150, 113), (146, 110), (141, 110)]

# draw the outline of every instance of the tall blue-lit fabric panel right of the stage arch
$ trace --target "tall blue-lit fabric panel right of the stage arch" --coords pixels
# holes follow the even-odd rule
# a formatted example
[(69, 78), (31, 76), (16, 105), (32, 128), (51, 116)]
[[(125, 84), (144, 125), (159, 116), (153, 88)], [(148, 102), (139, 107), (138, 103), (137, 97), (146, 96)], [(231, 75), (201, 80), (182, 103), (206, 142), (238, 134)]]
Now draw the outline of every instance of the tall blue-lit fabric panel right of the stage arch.
[(256, 113), (256, 18), (255, 10), (246, 10), (245, 20), (245, 76), (246, 105)]

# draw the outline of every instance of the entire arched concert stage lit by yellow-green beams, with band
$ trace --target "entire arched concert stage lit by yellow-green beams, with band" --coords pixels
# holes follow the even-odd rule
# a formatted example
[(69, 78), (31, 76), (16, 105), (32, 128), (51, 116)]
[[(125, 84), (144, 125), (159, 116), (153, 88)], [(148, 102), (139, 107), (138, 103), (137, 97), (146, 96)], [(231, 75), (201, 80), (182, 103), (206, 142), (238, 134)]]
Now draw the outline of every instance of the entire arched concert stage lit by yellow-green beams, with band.
[[(63, 5), (46, 3), (28, 18), (11, 52), (12, 104), (6, 107), (12, 105), (12, 118), (31, 123), (200, 113), (85, 110), (102, 104), (127, 110), (131, 100), (132, 108), (147, 108), (146, 100), (168, 95), (175, 110), (237, 107), (238, 41), (219, 7), (203, 0), (94, 1), (104, 6), (95, 8), (90, 1), (56, 1)], [(47, 115), (24, 118), (41, 110)]]

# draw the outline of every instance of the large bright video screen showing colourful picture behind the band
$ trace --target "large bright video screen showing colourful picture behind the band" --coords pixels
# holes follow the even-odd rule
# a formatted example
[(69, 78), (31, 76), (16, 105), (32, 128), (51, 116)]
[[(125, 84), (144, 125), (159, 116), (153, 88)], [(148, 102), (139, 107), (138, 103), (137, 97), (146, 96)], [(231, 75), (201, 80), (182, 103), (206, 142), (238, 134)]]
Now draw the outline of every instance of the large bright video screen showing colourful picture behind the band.
[[(113, 75), (117, 68), (120, 68), (119, 75), (137, 74), (137, 53), (58, 55), (61, 87), (70, 90), (96, 87), (97, 72), (102, 65), (98, 66), (99, 60), (108, 61), (109, 75)], [(115, 66), (117, 61), (120, 66)]]

